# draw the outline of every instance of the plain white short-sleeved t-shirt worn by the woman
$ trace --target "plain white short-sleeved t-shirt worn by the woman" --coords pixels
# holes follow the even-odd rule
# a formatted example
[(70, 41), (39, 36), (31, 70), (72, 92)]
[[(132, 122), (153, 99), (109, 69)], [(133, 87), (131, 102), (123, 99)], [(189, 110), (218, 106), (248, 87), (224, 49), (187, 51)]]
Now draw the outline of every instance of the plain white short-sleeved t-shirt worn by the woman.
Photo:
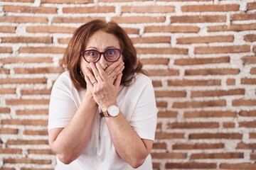
[[(64, 128), (78, 110), (84, 90), (75, 89), (69, 72), (63, 72), (53, 85), (50, 95), (48, 130)], [(120, 86), (117, 96), (120, 111), (139, 137), (154, 140), (157, 108), (151, 79), (144, 74), (135, 74), (130, 86)], [(66, 165), (57, 157), (55, 170), (130, 170), (132, 166), (124, 162), (114, 149), (105, 118), (100, 117), (97, 109), (92, 127), (90, 142), (75, 161)], [(75, 139), (74, 139), (75, 140)], [(138, 169), (151, 170), (151, 156)]]

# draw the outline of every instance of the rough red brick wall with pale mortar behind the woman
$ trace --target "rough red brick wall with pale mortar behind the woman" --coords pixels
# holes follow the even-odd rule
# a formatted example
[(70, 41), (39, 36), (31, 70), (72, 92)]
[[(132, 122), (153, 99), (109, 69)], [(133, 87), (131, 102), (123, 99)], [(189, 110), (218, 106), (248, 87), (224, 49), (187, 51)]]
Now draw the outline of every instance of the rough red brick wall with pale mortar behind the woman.
[(153, 80), (154, 169), (256, 169), (256, 1), (1, 0), (0, 167), (49, 170), (50, 90), (73, 31), (116, 21)]

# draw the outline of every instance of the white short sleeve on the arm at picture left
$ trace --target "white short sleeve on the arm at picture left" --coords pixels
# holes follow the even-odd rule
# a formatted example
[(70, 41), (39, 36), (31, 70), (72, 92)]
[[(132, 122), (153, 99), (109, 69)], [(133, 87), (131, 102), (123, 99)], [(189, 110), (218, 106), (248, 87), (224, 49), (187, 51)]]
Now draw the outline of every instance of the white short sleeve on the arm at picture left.
[(67, 72), (58, 77), (50, 94), (48, 130), (64, 128), (77, 111), (71, 95), (71, 86)]

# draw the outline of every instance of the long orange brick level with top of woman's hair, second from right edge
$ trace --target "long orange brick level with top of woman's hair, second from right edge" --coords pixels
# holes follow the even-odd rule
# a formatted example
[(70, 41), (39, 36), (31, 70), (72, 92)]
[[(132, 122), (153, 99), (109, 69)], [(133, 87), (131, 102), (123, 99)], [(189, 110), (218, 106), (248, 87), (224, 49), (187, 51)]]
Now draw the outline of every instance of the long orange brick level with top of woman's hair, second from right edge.
[(171, 23), (218, 23), (225, 21), (226, 16), (171, 16)]

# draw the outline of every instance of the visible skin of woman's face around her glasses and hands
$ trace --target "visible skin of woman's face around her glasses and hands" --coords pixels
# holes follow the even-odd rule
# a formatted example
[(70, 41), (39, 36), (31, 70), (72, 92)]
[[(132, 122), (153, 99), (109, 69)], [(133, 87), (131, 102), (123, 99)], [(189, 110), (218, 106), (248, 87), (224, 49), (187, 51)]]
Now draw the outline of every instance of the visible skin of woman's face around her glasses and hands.
[[(102, 30), (98, 30), (90, 37), (85, 47), (85, 50), (97, 50), (98, 52), (105, 52), (106, 50), (113, 48), (120, 49), (119, 40), (113, 34), (105, 33)], [(119, 60), (122, 60), (122, 55)], [(105, 70), (113, 62), (105, 60), (105, 57), (101, 55), (100, 60), (98, 60), (97, 63), (99, 63)], [(83, 74), (85, 74), (85, 67), (89, 67), (89, 63), (86, 62), (85, 59), (81, 56), (80, 69), (82, 70)]]

